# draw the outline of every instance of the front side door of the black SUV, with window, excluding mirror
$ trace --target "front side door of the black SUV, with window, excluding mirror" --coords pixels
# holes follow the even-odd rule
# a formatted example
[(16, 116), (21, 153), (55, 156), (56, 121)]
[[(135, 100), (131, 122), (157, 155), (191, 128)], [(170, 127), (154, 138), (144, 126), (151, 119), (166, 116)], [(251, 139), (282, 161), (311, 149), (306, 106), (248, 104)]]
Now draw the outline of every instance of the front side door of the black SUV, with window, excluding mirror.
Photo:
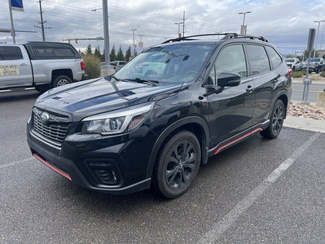
[(238, 73), (241, 83), (224, 87), (221, 93), (209, 93), (211, 147), (252, 127), (255, 95), (254, 82), (248, 77), (247, 58), (242, 44), (229, 45), (219, 53), (205, 83), (207, 89), (216, 86), (222, 72)]

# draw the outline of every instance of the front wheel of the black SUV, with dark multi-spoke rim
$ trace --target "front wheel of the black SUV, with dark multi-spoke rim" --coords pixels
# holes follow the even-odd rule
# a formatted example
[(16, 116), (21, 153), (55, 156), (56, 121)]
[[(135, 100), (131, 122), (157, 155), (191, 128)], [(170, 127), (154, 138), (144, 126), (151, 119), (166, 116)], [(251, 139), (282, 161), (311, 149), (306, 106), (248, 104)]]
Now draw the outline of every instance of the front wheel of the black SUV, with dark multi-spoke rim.
[(179, 131), (167, 138), (158, 152), (152, 173), (153, 188), (166, 198), (179, 197), (192, 185), (200, 161), (198, 138), (189, 131)]

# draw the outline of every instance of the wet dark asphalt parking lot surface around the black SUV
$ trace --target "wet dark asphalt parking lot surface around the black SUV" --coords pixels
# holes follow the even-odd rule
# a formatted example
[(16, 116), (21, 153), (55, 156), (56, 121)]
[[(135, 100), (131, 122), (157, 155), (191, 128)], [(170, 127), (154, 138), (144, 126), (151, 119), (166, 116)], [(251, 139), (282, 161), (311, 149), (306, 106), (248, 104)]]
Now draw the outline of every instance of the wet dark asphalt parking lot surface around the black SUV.
[(0, 92), (0, 243), (323, 243), (325, 134), (283, 128), (210, 158), (174, 200), (85, 190), (31, 156), (35, 90)]

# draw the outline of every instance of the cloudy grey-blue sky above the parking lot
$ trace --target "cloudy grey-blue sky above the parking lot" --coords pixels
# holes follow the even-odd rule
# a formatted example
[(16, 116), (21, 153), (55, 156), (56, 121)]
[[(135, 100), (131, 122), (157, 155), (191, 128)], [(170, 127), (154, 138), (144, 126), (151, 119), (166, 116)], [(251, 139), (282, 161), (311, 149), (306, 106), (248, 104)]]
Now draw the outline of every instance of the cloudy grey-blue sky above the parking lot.
[[(0, 28), (11, 28), (8, 0), (0, 0)], [(325, 20), (324, 0), (119, 0), (109, 3), (110, 45), (121, 45), (125, 50), (133, 43), (131, 28), (136, 28), (135, 42), (144, 42), (144, 47), (161, 43), (165, 38), (177, 37), (178, 25), (185, 11), (185, 36), (214, 32), (240, 33), (243, 15), (246, 15), (247, 34), (264, 36), (279, 47), (283, 54), (303, 50), (308, 29), (317, 28), (314, 20)], [(23, 0), (25, 12), (13, 11), (15, 29), (35, 31), (39, 25), (39, 3)], [(101, 0), (43, 0), (43, 19), (47, 41), (61, 42), (62, 38), (103, 37), (103, 12)], [(98, 9), (96, 11), (91, 11)], [(320, 48), (321, 23), (318, 35)], [(182, 27), (181, 27), (182, 30)], [(41, 41), (40, 33), (17, 33), (16, 41)], [(10, 35), (0, 33), (0, 42), (12, 42)], [(89, 41), (71, 42), (82, 50)], [(90, 41), (94, 47), (104, 46), (103, 41)], [(325, 37), (322, 43), (325, 49)], [(137, 48), (140, 51), (140, 48)]]

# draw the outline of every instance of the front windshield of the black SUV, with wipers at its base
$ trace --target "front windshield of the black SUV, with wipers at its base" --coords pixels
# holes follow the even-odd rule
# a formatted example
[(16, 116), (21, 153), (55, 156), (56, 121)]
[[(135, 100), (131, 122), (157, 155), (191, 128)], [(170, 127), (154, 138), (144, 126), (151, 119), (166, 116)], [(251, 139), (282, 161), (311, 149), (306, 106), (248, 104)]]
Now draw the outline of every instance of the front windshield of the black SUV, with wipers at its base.
[(137, 55), (115, 73), (117, 79), (140, 78), (167, 82), (194, 79), (213, 44), (174, 44), (151, 47)]

